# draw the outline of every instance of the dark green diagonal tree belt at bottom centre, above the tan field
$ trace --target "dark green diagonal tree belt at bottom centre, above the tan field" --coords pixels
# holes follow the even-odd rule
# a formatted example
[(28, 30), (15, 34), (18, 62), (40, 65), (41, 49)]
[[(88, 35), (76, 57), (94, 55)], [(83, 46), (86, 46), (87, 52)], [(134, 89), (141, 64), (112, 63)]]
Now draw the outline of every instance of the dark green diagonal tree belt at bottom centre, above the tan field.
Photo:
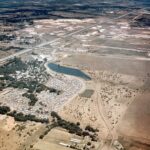
[(51, 112), (51, 116), (53, 117), (53, 121), (57, 126), (60, 126), (66, 130), (68, 130), (69, 133), (76, 134), (79, 136), (89, 136), (92, 141), (97, 141), (97, 135), (93, 134), (91, 132), (98, 132), (97, 129), (94, 129), (90, 126), (86, 127), (86, 130), (83, 130), (80, 128), (80, 123), (73, 123), (66, 121), (62, 119), (56, 112)]

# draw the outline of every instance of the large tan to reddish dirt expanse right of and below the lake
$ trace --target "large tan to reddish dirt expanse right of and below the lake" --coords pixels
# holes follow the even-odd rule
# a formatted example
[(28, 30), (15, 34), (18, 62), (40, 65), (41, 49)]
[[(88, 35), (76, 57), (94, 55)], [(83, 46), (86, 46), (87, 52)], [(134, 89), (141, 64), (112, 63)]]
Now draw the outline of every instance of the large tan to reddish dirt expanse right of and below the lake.
[(78, 96), (65, 106), (61, 112), (64, 117), (96, 126), (105, 138), (111, 133), (113, 139), (123, 135), (149, 141), (148, 61), (74, 55), (62, 63), (87, 72), (92, 81), (86, 82), (86, 88), (94, 90), (91, 98)]

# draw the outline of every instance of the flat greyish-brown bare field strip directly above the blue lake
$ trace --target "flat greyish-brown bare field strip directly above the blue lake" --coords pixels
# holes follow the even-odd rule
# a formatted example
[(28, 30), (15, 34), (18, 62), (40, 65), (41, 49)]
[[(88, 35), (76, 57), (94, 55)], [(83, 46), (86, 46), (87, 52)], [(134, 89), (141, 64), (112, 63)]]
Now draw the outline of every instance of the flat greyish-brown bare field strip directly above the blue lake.
[(150, 72), (150, 62), (138, 58), (98, 56), (96, 54), (73, 54), (63, 61), (64, 64), (76, 65), (90, 70), (106, 70), (134, 76), (147, 76)]

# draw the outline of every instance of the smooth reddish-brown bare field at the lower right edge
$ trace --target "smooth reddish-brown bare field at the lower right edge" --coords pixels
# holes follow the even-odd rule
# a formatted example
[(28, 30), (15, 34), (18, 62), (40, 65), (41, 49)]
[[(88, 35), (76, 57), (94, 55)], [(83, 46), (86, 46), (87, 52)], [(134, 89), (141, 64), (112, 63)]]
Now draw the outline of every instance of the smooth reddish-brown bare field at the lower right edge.
[(150, 93), (144, 93), (134, 100), (119, 126), (122, 135), (147, 144), (150, 144), (149, 98)]

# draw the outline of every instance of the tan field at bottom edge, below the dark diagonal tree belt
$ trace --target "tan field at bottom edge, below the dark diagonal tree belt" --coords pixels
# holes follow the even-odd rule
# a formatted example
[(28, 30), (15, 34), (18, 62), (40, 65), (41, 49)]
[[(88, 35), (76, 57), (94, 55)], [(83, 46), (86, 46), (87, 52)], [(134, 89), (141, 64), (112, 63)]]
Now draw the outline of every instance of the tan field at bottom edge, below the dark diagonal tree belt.
[[(73, 142), (73, 141), (78, 141)], [(78, 145), (79, 149), (82, 149), (84, 145), (89, 141), (87, 138), (81, 138), (77, 135), (73, 135), (68, 133), (66, 130), (62, 128), (52, 129), (42, 140), (39, 140), (33, 147), (33, 149), (38, 150), (71, 150), (69, 145)], [(64, 145), (63, 145), (64, 144)], [(97, 149), (100, 146), (99, 142), (92, 142), (94, 145), (94, 149)], [(67, 146), (68, 145), (68, 146)]]

